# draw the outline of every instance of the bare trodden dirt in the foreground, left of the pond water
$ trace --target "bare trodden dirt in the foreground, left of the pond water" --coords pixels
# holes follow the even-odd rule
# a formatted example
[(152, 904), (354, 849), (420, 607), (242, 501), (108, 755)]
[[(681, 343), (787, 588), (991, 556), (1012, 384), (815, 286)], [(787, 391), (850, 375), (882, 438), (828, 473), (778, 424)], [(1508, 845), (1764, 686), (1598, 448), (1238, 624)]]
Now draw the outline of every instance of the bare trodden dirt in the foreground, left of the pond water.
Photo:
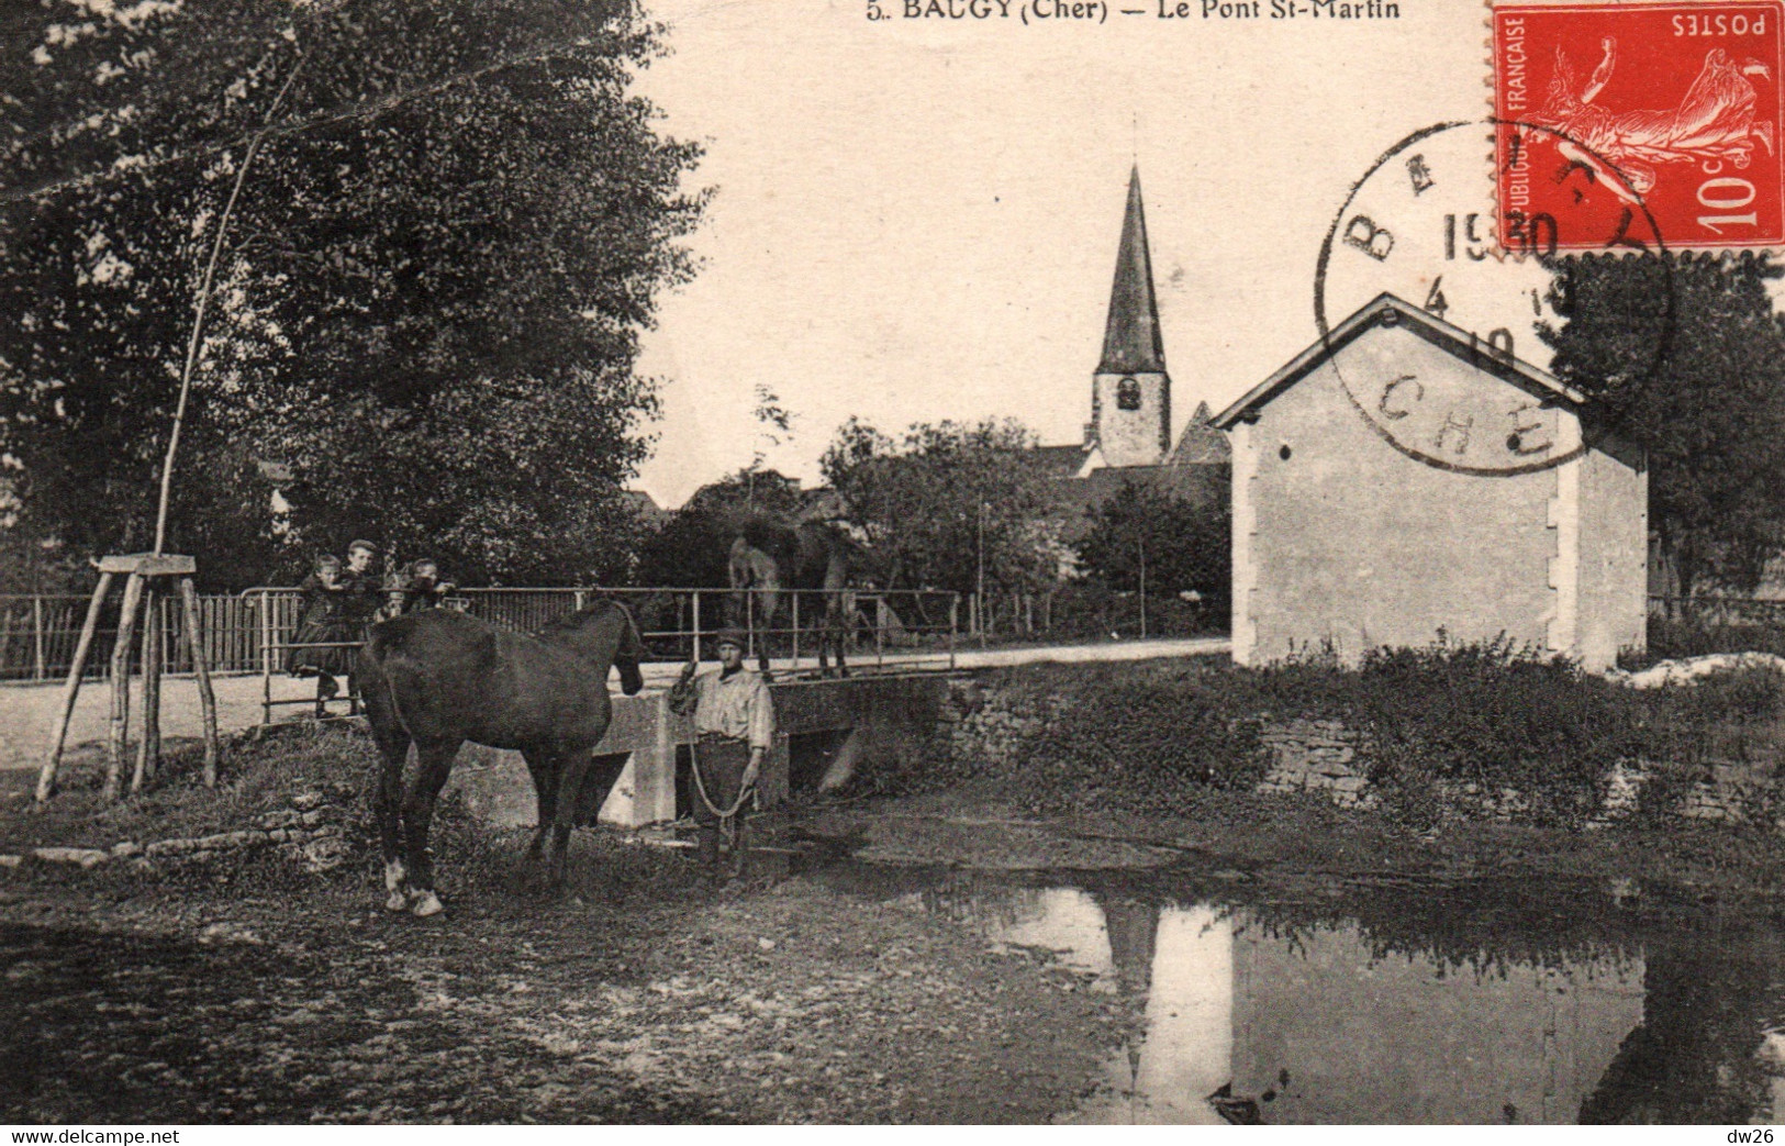
[(366, 871), (0, 875), (0, 1121), (1048, 1121), (1123, 1021), (896, 898), (637, 851), (432, 921)]

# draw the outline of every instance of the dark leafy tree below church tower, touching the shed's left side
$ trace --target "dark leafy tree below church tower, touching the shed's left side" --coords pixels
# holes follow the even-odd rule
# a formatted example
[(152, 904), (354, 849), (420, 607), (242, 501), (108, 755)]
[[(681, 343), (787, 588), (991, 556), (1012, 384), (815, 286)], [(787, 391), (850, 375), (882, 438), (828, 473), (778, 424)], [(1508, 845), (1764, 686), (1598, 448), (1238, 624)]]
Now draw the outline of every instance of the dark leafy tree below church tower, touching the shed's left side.
[(1166, 491), (1123, 482), (1103, 505), (1091, 511), (1091, 532), (1078, 544), (1085, 573), (1110, 589), (1196, 591), (1207, 609), (1226, 609), (1232, 584), (1232, 521), (1228, 503), (1196, 505)]

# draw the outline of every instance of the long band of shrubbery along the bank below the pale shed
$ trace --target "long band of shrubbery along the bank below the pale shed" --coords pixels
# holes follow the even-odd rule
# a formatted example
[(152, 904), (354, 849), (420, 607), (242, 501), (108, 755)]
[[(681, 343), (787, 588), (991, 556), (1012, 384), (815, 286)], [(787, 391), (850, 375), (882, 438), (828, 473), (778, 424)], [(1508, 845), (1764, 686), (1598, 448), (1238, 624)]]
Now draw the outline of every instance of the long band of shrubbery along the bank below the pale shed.
[[(1385, 814), (1414, 826), (1510, 814), (1580, 826), (1619, 764), (1646, 776), (1637, 814), (1673, 814), (1712, 762), (1762, 764), (1785, 746), (1785, 675), (1740, 671), (1690, 687), (1630, 689), (1510, 641), (1376, 650), (1358, 668), (1314, 652), (1266, 669), (1208, 662), (1012, 673), (1009, 693), (1060, 698), (1016, 759), (966, 775), (1009, 778), (1046, 810), (1189, 814), (1212, 789), (1269, 768), (1266, 723), (1333, 719)], [(1026, 705), (1034, 707), (1034, 705)]]

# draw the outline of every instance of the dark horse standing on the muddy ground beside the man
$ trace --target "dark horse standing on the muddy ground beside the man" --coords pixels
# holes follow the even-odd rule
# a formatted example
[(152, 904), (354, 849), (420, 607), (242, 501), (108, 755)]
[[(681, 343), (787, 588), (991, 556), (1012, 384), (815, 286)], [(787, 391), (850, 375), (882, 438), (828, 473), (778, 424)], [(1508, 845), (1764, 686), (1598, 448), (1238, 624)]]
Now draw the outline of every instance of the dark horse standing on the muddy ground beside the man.
[[(614, 602), (580, 609), (530, 637), (443, 609), (375, 625), (359, 655), (359, 678), (384, 755), (375, 803), (391, 893), (386, 907), (418, 916), (441, 910), (428, 825), (464, 741), (518, 748), (527, 759), (539, 796), (528, 859), (539, 860), (552, 825), (550, 887), (560, 887), (591, 753), (614, 714), (607, 669), (619, 669), (619, 685), (632, 696), (644, 687), (641, 652), (632, 616)], [(411, 744), (416, 773), (403, 791)]]

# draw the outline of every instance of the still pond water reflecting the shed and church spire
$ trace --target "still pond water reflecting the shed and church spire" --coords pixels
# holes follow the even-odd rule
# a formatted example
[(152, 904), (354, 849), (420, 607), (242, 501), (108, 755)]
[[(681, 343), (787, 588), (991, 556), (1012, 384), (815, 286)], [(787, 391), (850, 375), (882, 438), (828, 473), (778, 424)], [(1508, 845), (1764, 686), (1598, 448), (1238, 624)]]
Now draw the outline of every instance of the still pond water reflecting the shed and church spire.
[(1624, 919), (1596, 934), (1565, 907), (1503, 926), (1448, 894), (1335, 910), (971, 880), (910, 898), (1053, 950), (1132, 1007), (1125, 1044), (1060, 1121), (1785, 1116), (1785, 946), (1771, 921)]

